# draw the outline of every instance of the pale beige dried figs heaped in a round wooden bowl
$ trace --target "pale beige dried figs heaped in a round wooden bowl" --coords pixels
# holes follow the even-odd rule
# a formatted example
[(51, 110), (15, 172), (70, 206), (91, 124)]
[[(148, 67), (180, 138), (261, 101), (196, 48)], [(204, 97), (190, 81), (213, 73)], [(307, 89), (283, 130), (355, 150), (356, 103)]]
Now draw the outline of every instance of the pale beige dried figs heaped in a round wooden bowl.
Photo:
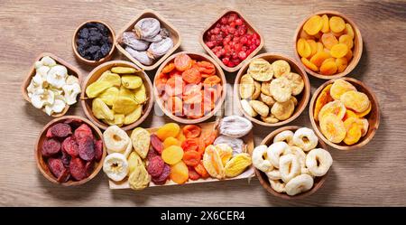
[(262, 58), (250, 62), (239, 83), (241, 107), (250, 117), (277, 123), (291, 117), (304, 89), (301, 76), (291, 71), (289, 62), (270, 63)]

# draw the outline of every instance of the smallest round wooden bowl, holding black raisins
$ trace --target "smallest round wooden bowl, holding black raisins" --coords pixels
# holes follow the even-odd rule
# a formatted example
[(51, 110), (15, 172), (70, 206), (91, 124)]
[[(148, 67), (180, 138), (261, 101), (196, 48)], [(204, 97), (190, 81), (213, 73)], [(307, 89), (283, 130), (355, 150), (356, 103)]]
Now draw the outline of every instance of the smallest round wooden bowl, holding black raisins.
[[(99, 61), (89, 61), (87, 59), (85, 59), (84, 57), (82, 57), (79, 53), (78, 53), (78, 44), (76, 44), (76, 40), (78, 39), (78, 31), (80, 30), (80, 28), (82, 28), (86, 23), (102, 23), (106, 26), (106, 28), (108, 29), (108, 31), (110, 32), (109, 35), (109, 39), (111, 41), (111, 49), (110, 52), (108, 52), (108, 54), (105, 56), (105, 58), (101, 58)], [(113, 56), (113, 52), (115, 52), (115, 31), (111, 28), (110, 25), (108, 25), (105, 22), (102, 21), (98, 21), (98, 20), (89, 20), (87, 22), (81, 23), (80, 25), (78, 25), (78, 28), (76, 29), (75, 33), (73, 33), (73, 37), (72, 37), (72, 49), (73, 49), (73, 53), (75, 54), (76, 59), (78, 59), (78, 61), (81, 61), (87, 65), (90, 66), (97, 66), (105, 61), (108, 61), (111, 59), (111, 57)]]

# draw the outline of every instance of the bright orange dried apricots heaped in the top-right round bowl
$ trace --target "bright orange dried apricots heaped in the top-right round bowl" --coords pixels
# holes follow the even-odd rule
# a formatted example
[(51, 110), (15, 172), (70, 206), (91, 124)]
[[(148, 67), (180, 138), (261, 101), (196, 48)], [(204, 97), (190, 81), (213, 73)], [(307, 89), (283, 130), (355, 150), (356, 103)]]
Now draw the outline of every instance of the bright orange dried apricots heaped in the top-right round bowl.
[(309, 70), (334, 75), (351, 61), (354, 38), (353, 27), (342, 17), (316, 14), (304, 23), (296, 50)]

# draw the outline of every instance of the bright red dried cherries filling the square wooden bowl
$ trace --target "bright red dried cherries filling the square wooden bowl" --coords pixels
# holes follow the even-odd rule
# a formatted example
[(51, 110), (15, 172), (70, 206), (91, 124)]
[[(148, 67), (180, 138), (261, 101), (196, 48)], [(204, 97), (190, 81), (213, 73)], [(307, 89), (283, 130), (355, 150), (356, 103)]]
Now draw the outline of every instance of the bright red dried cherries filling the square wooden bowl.
[(244, 19), (229, 13), (204, 34), (204, 42), (227, 67), (244, 61), (261, 44), (258, 33), (252, 33)]

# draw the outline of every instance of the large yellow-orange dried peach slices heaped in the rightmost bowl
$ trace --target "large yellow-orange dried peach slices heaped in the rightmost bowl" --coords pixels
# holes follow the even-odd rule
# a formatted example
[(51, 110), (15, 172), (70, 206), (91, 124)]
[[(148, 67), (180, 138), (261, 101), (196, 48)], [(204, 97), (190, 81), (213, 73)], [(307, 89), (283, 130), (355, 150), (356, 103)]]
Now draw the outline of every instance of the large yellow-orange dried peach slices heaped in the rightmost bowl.
[(372, 104), (367, 95), (346, 80), (335, 80), (321, 90), (314, 107), (314, 120), (332, 143), (355, 145), (368, 132), (367, 116)]

